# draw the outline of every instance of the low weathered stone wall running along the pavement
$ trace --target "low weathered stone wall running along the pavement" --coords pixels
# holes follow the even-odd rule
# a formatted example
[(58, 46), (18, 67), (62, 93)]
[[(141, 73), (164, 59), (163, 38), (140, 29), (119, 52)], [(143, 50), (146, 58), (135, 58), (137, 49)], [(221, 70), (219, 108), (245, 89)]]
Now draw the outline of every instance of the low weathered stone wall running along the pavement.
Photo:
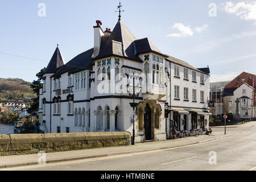
[(11, 134), (0, 135), (0, 155), (37, 154), (39, 151), (57, 152), (129, 146), (131, 134), (106, 133), (58, 133), (58, 134)]

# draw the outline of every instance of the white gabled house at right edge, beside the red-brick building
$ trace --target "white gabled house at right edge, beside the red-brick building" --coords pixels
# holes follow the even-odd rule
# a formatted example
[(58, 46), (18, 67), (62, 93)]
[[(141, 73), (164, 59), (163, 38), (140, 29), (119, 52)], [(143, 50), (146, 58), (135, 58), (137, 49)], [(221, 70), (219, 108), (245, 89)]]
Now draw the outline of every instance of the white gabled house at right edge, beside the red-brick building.
[(255, 88), (243, 82), (234, 90), (234, 95), (226, 100), (229, 113), (232, 113), (234, 117), (239, 114), (242, 119), (255, 118), (255, 104), (252, 98), (255, 98)]

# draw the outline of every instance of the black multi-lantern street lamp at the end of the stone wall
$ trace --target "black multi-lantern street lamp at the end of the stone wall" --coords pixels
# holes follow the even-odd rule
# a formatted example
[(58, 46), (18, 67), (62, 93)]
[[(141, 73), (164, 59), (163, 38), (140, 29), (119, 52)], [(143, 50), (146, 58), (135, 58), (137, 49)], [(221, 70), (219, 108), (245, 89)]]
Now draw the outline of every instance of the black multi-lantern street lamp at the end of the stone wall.
[[(127, 78), (129, 78), (129, 75), (126, 75)], [(141, 78), (139, 78), (141, 80)], [(141, 89), (142, 86), (138, 85), (135, 86), (134, 85), (135, 82), (135, 77), (134, 77), (134, 73), (133, 73), (133, 85), (131, 84), (127, 84), (126, 88), (127, 88), (127, 92), (129, 93), (129, 96), (133, 95), (133, 102), (130, 103), (131, 107), (133, 107), (133, 138), (131, 140), (131, 144), (134, 145), (134, 140), (135, 140), (135, 129), (134, 129), (134, 115), (135, 115), (135, 107), (137, 107), (138, 103), (135, 103), (135, 95), (137, 95), (137, 97), (139, 96), (139, 93), (141, 93)], [(131, 92), (133, 91), (133, 94), (131, 94)], [(136, 91), (136, 94), (135, 94)]]

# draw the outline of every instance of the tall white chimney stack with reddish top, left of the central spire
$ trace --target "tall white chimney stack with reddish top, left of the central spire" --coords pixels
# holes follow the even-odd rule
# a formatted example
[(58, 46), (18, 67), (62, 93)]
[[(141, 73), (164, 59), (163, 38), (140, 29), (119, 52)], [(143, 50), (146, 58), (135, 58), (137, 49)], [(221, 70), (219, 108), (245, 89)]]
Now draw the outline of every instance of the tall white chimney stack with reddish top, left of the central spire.
[(94, 50), (93, 50), (93, 57), (98, 56), (98, 53), (100, 53), (100, 47), (101, 47), (101, 36), (104, 35), (104, 32), (101, 28), (101, 21), (96, 20), (97, 26), (94, 26)]

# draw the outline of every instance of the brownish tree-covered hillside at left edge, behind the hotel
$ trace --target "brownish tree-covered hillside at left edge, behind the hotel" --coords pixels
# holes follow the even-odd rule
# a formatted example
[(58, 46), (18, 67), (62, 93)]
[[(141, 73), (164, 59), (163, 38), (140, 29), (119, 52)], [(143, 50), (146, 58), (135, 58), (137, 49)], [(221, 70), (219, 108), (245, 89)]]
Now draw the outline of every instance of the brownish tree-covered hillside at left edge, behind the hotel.
[(34, 98), (31, 83), (19, 78), (0, 78), (0, 100), (3, 102), (7, 99), (27, 100)]

